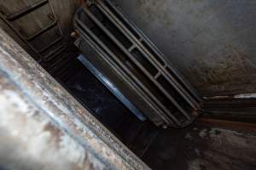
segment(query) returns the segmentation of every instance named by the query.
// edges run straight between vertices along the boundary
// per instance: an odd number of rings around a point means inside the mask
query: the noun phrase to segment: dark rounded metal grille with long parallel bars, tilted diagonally
[[[88,42],[100,54],[98,57],[108,61],[154,110],[154,116],[160,117],[161,122],[155,122],[157,125],[184,127],[194,120],[200,108],[194,90],[142,31],[111,3],[87,1],[75,15],[74,25],[82,41]],[[137,105],[136,100],[132,102]]]

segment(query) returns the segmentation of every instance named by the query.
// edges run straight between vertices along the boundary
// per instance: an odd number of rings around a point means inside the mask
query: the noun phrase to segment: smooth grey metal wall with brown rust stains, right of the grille
[[[256,91],[256,2],[112,0],[203,96]]]

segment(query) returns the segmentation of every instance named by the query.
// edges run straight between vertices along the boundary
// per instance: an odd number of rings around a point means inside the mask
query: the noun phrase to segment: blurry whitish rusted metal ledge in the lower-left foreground
[[[0,29],[0,169],[148,169]]]

